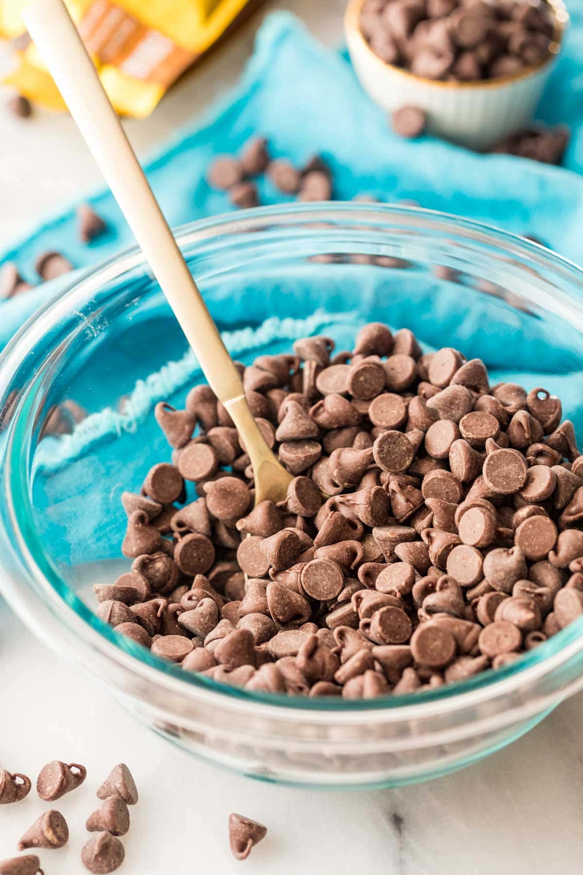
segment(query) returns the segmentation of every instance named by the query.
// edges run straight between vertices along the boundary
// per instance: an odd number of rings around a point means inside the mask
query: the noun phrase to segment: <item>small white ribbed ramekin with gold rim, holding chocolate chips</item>
[[[350,59],[372,100],[388,112],[415,106],[427,113],[427,128],[439,137],[485,150],[531,122],[569,20],[563,0],[550,0],[555,34],[548,59],[513,76],[479,82],[422,79],[378,58],[358,25],[364,0],[350,0],[344,31]]]

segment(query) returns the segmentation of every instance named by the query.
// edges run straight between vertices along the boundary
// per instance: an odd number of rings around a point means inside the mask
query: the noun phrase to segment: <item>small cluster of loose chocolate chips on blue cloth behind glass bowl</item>
[[[330,200],[332,197],[330,168],[322,158],[314,156],[298,170],[287,158],[270,158],[265,137],[249,140],[240,156],[215,158],[208,179],[213,188],[229,193],[234,207],[257,207],[259,193],[253,177],[264,173],[282,194],[296,195],[297,200]]]

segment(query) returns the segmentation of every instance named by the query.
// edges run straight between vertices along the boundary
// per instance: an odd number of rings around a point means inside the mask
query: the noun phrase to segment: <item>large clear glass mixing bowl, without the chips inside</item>
[[[580,424],[580,381],[568,376],[583,367],[583,273],[537,244],[354,202],[221,216],[180,229],[177,241],[240,360],[306,331],[350,348],[359,325],[378,319],[482,357],[493,383],[520,374],[527,388],[544,385]],[[102,623],[91,586],[129,565],[119,558],[121,491],[139,490],[149,466],[169,458],[153,405],[183,402],[196,381],[196,360],[135,249],[53,299],[0,360],[3,594],[142,722],[264,781],[390,787],[478,760],[583,687],[583,620],[504,669],[368,701],[220,685]],[[55,407],[71,401],[89,413],[78,425],[74,404]]]

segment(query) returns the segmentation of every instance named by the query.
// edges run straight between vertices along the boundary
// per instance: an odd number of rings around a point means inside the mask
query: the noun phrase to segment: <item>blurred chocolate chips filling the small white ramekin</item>
[[[480,81],[549,57],[546,0],[365,0],[360,29],[388,64],[423,79]]]

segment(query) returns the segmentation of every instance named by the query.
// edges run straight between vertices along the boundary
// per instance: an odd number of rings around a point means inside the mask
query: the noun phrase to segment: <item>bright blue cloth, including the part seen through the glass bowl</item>
[[[230,208],[226,194],[208,186],[207,167],[216,154],[236,152],[248,137],[260,133],[268,138],[275,157],[285,156],[297,165],[313,153],[322,154],[333,172],[337,200],[350,200],[359,193],[379,200],[413,199],[423,207],[536,235],[559,253],[582,261],[583,10],[573,8],[572,16],[565,51],[539,112],[545,121],[573,127],[563,168],[477,155],[431,137],[415,142],[396,137],[385,114],[363,94],[347,59],[317,44],[295,18],[278,13],[262,27],[253,59],[233,94],[147,165],[150,184],[173,226],[224,213]],[[282,200],[268,179],[260,181],[260,196],[262,203]],[[23,276],[33,280],[31,263],[47,249],[59,249],[76,267],[87,269],[130,245],[131,235],[110,193],[97,193],[90,200],[108,221],[107,235],[81,245],[73,205],[4,258],[16,261]],[[544,385],[561,395],[575,423],[583,424],[579,423],[583,413],[577,412],[583,411],[583,380],[573,373],[572,364],[583,360],[577,332],[569,336],[563,325],[559,337],[552,325],[537,324],[510,308],[504,327],[500,318],[504,305],[496,298],[479,296],[478,301],[469,290],[461,295],[456,285],[432,286],[430,277],[420,278],[413,271],[384,273],[379,283],[378,269],[371,269],[367,284],[365,271],[358,269],[358,318],[350,315],[353,304],[347,297],[347,288],[354,286],[347,285],[350,265],[337,280],[312,264],[302,276],[274,276],[269,290],[248,276],[236,287],[221,282],[203,291],[213,315],[228,332],[228,345],[243,360],[251,360],[258,351],[288,348],[297,332],[307,327],[329,333],[345,348],[365,318],[384,318],[395,327],[409,325],[427,349],[447,342],[464,353],[481,355],[491,368],[493,383],[510,379],[528,388]],[[71,276],[61,277],[1,304],[0,346],[24,318],[69,283]],[[425,289],[422,302],[417,297],[420,283]],[[321,311],[309,326],[298,321],[318,307]],[[489,320],[493,308],[496,319]],[[241,312],[253,326],[250,332],[238,332]],[[281,318],[263,325],[274,312]],[[495,322],[492,332],[489,326]],[[510,342],[518,333],[523,339],[519,348]],[[95,380],[87,386],[91,349],[80,358],[70,386],[72,397],[88,401],[91,416],[73,436],[47,438],[35,458],[38,531],[45,542],[51,542],[53,556],[66,563],[119,555],[123,529],[119,492],[123,487],[139,488],[149,464],[163,458],[162,453],[167,455],[151,416],[153,404],[161,399],[183,402],[188,386],[200,376],[193,357],[181,359],[182,350],[175,348],[170,332],[156,349],[157,360],[149,361],[148,367],[143,360],[123,359],[126,353],[115,332],[108,334],[108,343],[110,367],[100,374],[101,387]],[[101,345],[95,354],[102,353]],[[129,394],[122,414],[103,407],[103,399],[111,397],[108,380],[115,381],[120,395]],[[89,492],[90,513],[84,503]]]

